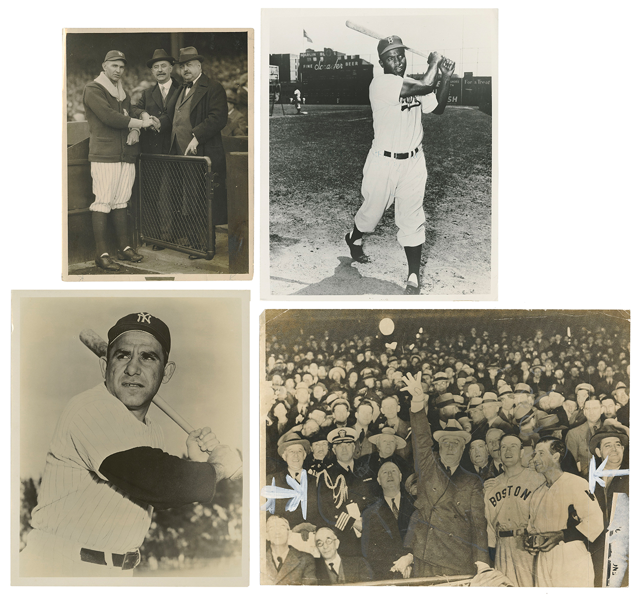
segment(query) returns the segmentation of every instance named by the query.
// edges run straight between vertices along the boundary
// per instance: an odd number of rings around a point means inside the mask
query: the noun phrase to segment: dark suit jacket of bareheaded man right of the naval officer
[[[404,541],[414,510],[412,501],[401,493],[398,519],[394,518],[384,498],[363,512],[361,545],[374,580],[401,578],[398,573],[390,573],[390,568],[396,560],[411,551],[404,546]]]

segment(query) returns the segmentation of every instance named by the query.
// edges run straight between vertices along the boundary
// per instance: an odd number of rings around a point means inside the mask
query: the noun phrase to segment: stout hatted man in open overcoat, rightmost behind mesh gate
[[[225,186],[226,163],[221,130],[227,124],[227,95],[221,83],[203,72],[204,56],[195,47],[183,47],[176,63],[184,85],[167,104],[167,115],[172,122],[171,154],[208,157],[212,172],[218,174],[221,195]],[[204,213],[198,208],[199,189],[188,179],[183,180],[183,214],[197,219],[203,232],[192,232],[189,238],[195,249],[204,249]],[[202,189],[200,189],[200,192]],[[215,232],[214,232],[215,240]],[[190,259],[199,256],[190,255]]]

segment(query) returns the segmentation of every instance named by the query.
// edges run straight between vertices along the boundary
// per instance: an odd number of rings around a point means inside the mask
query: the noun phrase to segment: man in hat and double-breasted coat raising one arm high
[[[474,575],[474,562],[490,563],[483,483],[460,466],[470,434],[449,420],[432,438],[424,413],[426,395],[416,377],[408,374],[405,391],[412,395],[410,424],[419,473],[417,512],[408,528],[414,576]],[[438,453],[433,450],[438,442]]]

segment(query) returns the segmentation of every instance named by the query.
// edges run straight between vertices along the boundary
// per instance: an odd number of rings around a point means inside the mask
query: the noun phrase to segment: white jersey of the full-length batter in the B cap
[[[434,93],[419,97],[401,97],[403,77],[383,74],[372,79],[369,101],[374,117],[376,151],[408,153],[423,142],[422,113],[430,113],[438,106]]]

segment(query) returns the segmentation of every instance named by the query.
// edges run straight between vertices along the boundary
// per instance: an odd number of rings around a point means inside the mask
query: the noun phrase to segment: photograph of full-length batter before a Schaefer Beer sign
[[[272,299],[497,298],[497,22],[494,9],[263,10]]]

